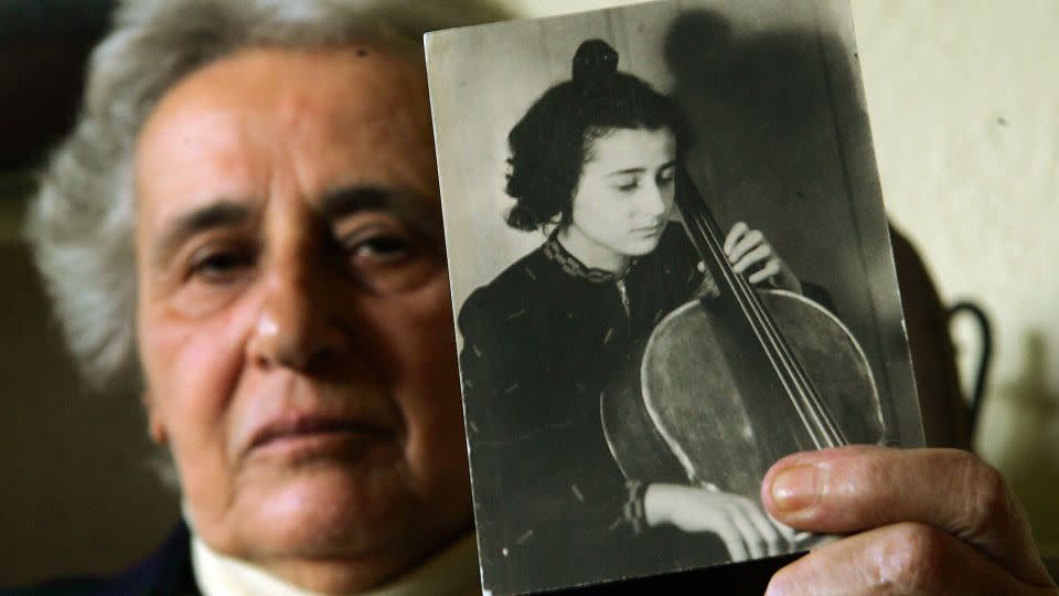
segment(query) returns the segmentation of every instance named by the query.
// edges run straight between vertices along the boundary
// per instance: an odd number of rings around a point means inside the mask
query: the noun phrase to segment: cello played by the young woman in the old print
[[[792,291],[732,270],[724,235],[685,172],[675,203],[719,296],[664,317],[600,396],[624,476],[741,494],[794,451],[884,439],[879,394],[845,324]]]

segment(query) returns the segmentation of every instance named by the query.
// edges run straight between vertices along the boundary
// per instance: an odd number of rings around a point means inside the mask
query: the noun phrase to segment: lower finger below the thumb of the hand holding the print
[[[901,523],[849,536],[783,567],[766,596],[1050,594],[1020,584],[973,546],[929,525]]]

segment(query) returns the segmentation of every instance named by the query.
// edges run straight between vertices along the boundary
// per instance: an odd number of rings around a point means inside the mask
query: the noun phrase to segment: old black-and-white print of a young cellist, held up
[[[653,2],[426,47],[483,588],[826,540],[764,513],[769,466],[922,443],[848,7]]]

